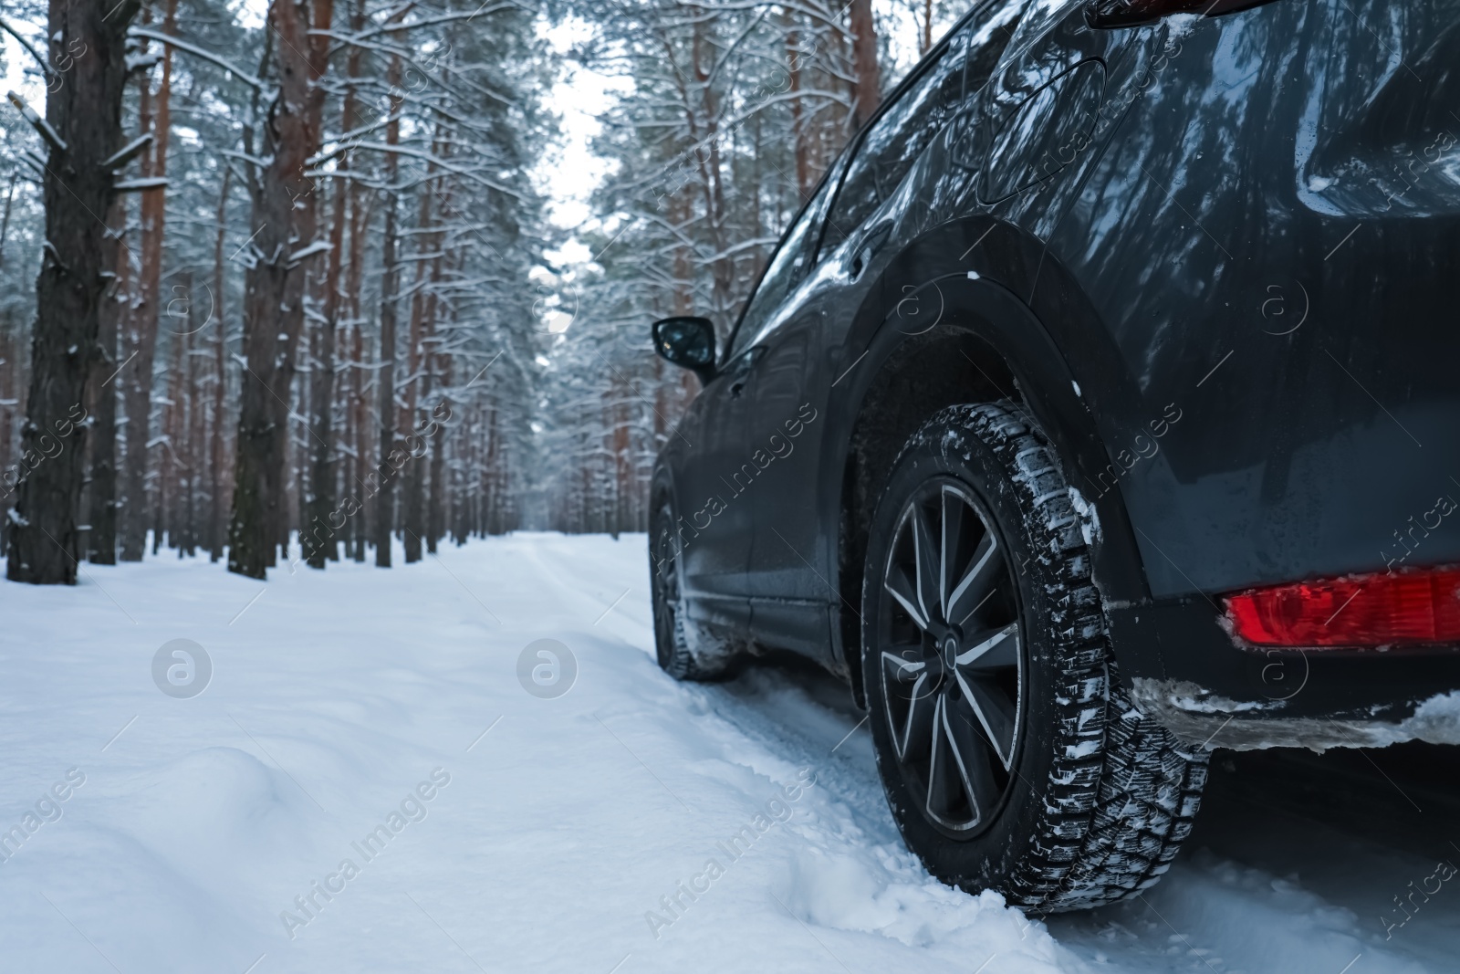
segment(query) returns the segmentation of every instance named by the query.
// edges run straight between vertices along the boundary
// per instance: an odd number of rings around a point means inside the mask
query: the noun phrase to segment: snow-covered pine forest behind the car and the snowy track
[[[696,390],[648,323],[692,310],[724,339],[964,7],[7,3],[9,578],[644,530]]]

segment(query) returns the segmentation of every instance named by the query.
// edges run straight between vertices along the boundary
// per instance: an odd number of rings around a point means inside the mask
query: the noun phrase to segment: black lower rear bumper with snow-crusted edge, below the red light
[[[1460,645],[1241,648],[1218,603],[1199,596],[1107,610],[1136,705],[1177,737],[1238,751],[1460,743]]]

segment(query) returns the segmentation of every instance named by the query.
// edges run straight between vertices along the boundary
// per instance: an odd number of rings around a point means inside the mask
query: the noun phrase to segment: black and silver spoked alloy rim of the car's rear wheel
[[[971,838],[1015,777],[1025,650],[1007,548],[965,485],[930,480],[902,508],[879,619],[883,718],[898,768],[931,825]]]

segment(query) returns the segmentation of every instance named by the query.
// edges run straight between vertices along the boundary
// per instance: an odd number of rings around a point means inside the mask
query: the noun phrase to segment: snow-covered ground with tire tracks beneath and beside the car
[[[1029,921],[905,851],[829,678],[661,675],[647,584],[642,536],[550,534],[0,583],[0,968],[1456,970],[1460,765],[1241,756],[1143,900]],[[577,662],[550,699],[542,638]],[[197,697],[153,680],[171,640]]]

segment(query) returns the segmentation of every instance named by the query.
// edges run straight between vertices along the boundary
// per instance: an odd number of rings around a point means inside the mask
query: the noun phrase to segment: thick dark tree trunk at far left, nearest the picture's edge
[[[47,37],[54,51],[85,45],[61,85],[45,99],[45,129],[54,133],[45,166],[45,254],[35,279],[31,388],[20,457],[20,483],[6,574],[12,581],[76,584],[82,555],[82,459],[86,380],[96,350],[102,295],[115,242],[98,213],[115,196],[102,165],[121,146],[126,32],[137,0],[102,4],[51,0]],[[31,463],[34,460],[34,464]]]

